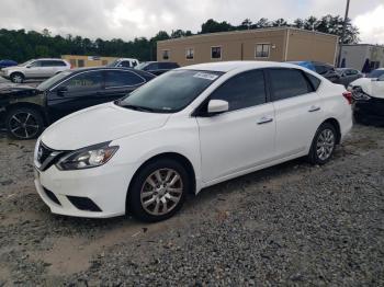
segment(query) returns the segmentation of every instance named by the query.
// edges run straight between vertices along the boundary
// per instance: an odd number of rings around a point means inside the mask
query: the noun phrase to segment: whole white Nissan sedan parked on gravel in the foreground
[[[352,127],[350,101],[289,64],[180,68],[48,127],[35,185],[55,214],[162,220],[203,187],[303,156],[326,163]]]

